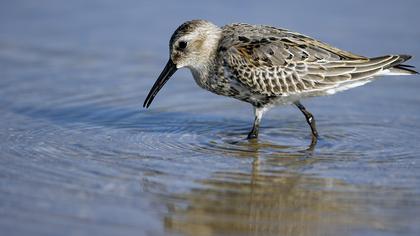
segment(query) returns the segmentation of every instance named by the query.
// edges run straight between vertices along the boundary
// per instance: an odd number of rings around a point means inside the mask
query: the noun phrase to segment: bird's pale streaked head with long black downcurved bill
[[[204,69],[212,60],[220,37],[221,29],[205,20],[187,21],[179,26],[169,41],[169,60],[147,95],[143,107],[150,106],[156,94],[177,69]]]

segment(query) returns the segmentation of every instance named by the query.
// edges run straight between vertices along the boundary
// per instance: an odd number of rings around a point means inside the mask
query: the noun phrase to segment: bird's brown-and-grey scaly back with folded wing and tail
[[[222,30],[218,61],[225,79],[268,100],[334,93],[380,74],[416,73],[401,65],[407,55],[367,58],[271,26],[231,24]]]

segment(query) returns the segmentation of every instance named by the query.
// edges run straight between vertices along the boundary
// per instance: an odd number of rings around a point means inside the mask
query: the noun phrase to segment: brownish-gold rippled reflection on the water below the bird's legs
[[[322,158],[308,158],[307,150],[259,141],[244,142],[253,152],[252,168],[215,172],[201,187],[168,203],[165,228],[186,235],[341,235],[348,230],[384,222],[363,214],[358,197],[363,188],[310,174]],[[259,156],[262,149],[280,154]],[[179,204],[179,200],[183,199]],[[344,231],[344,232],[343,232]],[[348,232],[347,232],[348,233]]]

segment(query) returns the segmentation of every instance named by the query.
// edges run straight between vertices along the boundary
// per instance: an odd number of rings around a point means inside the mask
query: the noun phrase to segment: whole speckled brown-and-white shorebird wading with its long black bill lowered
[[[402,64],[409,55],[368,58],[286,29],[244,23],[218,27],[206,20],[187,21],[173,33],[169,54],[143,107],[150,106],[177,69],[186,67],[201,88],[253,106],[249,139],[258,137],[265,111],[294,104],[305,116],[315,144],[315,119],[301,99],[331,95],[381,75],[418,74],[413,66]]]

